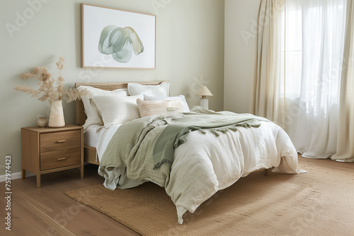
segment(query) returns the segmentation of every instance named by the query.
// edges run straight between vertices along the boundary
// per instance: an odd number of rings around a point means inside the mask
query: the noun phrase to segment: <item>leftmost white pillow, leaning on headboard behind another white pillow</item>
[[[120,88],[113,91],[101,90],[99,88],[93,88],[91,86],[79,86],[78,90],[87,90],[89,95],[82,97],[81,100],[84,103],[85,113],[87,116],[86,122],[84,124],[84,129],[86,130],[92,124],[103,124],[101,117],[98,116],[98,110],[95,106],[90,103],[90,98],[96,95],[115,95],[115,96],[127,96],[127,89]]]

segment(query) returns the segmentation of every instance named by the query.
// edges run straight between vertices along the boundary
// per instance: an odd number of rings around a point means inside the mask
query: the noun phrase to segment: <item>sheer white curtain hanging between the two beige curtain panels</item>
[[[347,0],[287,0],[281,81],[285,129],[307,158],[336,153]]]

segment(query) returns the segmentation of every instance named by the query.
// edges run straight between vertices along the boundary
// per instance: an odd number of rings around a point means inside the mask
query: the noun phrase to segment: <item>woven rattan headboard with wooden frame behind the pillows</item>
[[[91,86],[94,88],[99,88],[102,90],[116,90],[118,88],[127,88],[128,83],[140,83],[142,85],[159,85],[160,83],[165,81],[144,81],[144,82],[107,82],[107,83],[75,83],[75,88],[84,85],[84,86]],[[84,125],[87,119],[85,110],[84,110],[84,103],[81,100],[76,100],[75,103],[75,123],[79,125]]]

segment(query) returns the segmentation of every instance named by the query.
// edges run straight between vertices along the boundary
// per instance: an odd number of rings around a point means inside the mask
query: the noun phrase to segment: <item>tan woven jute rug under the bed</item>
[[[178,225],[164,188],[103,184],[67,196],[141,235],[354,235],[354,172],[299,164],[301,175],[256,171],[217,192]]]

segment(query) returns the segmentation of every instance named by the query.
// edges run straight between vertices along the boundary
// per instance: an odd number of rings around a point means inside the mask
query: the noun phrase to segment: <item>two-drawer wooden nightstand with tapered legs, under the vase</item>
[[[84,178],[84,129],[68,124],[62,128],[21,128],[22,179],[25,171],[37,176],[79,168]]]

